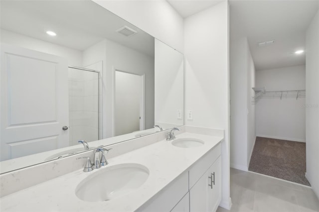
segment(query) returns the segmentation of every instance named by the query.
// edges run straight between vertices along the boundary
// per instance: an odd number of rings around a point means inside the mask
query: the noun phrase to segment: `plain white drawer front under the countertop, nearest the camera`
[[[141,206],[137,212],[169,212],[187,192],[188,172],[184,172]]]

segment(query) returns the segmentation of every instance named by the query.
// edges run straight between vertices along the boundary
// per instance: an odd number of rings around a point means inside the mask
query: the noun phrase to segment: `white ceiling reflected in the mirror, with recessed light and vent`
[[[1,29],[83,51],[104,38],[154,56],[154,37],[90,0],[1,0]],[[115,32],[127,25],[138,33]],[[48,36],[47,30],[57,36]]]

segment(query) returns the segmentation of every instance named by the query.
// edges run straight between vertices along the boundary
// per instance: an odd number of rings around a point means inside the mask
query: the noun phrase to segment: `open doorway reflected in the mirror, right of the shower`
[[[115,135],[144,129],[144,76],[115,71]]]

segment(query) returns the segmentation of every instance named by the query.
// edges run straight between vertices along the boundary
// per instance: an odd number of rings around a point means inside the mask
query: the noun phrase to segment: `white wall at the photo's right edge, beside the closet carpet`
[[[319,11],[306,32],[306,177],[319,198]]]

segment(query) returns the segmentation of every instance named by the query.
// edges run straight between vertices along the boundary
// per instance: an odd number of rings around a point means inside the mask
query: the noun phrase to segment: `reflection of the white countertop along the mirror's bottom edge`
[[[136,136],[136,134],[138,134],[138,133],[146,132],[147,134],[151,134],[151,133],[158,132],[158,130],[159,130],[158,128],[150,128],[150,129],[140,130],[137,132],[132,132],[132,133],[124,134],[124,135],[105,138],[105,139],[101,139],[101,140],[97,140],[97,141],[91,141],[88,144],[90,147],[93,147],[93,148],[98,147],[98,146],[107,146],[107,145],[119,143],[122,141],[134,139],[136,137],[140,137],[140,136]],[[68,147],[55,149],[55,150],[51,150],[51,151],[41,152],[41,153],[37,153],[37,154],[33,154],[33,155],[27,155],[24,157],[14,158],[11,160],[1,161],[0,162],[0,173],[5,173],[5,172],[12,171],[12,170],[28,167],[31,165],[43,163],[45,161],[50,160],[49,157],[51,157],[51,156],[56,156],[59,153],[61,153],[61,155],[63,155],[65,152],[68,152],[68,151],[72,152],[75,150],[77,151],[81,148],[83,150],[80,152],[85,151],[83,144],[78,144],[78,145],[68,146]]]

